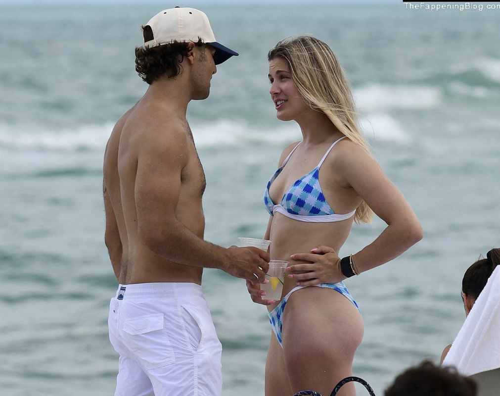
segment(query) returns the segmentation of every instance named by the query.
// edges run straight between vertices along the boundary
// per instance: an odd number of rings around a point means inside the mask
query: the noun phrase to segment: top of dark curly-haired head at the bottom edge
[[[384,396],[475,396],[476,392],[474,380],[426,360],[399,374]]]

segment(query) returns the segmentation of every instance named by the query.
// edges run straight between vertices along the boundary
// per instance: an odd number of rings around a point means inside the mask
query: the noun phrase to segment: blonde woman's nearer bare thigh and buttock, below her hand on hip
[[[293,292],[283,312],[283,357],[292,393],[312,389],[330,394],[352,375],[363,321],[357,308],[335,290],[307,287]],[[345,385],[341,393],[354,394]]]

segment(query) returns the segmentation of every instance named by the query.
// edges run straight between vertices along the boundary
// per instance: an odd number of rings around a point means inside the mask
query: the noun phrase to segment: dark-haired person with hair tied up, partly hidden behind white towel
[[[479,297],[489,277],[496,266],[500,264],[500,249],[491,249],[486,258],[480,258],[467,268],[462,279],[462,301],[465,308],[465,316],[468,316],[475,300]],[[446,346],[441,354],[441,363],[446,357],[451,344]]]

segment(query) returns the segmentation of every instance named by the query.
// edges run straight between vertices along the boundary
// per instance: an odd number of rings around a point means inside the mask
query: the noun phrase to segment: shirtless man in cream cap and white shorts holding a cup
[[[136,70],[149,87],[104,155],[105,243],[120,283],[108,319],[120,355],[115,396],[216,396],[221,344],[202,269],[263,282],[269,255],[203,240],[205,177],[186,110],[208,97],[215,65],[237,54],[194,9],[164,10],[143,34]]]

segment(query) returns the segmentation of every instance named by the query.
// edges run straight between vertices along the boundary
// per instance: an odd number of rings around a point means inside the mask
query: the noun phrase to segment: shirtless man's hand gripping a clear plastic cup
[[[250,283],[263,283],[269,269],[269,253],[256,247],[236,247],[227,249],[228,262],[221,268],[229,275],[243,278]]]

